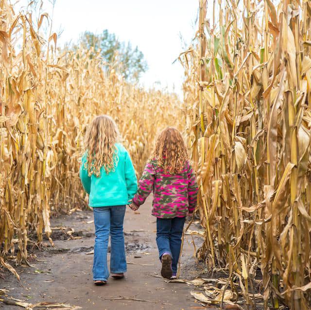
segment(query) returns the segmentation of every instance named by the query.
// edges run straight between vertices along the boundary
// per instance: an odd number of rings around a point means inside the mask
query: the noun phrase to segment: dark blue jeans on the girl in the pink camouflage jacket
[[[161,260],[164,253],[171,254],[173,273],[177,272],[185,220],[185,217],[156,218],[156,245],[159,258]]]

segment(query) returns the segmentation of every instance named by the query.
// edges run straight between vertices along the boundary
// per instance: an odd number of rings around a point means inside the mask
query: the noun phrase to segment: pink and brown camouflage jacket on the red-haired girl
[[[152,215],[159,218],[185,217],[196,206],[198,185],[190,163],[175,175],[165,174],[157,160],[149,160],[139,180],[133,202],[142,205],[153,191]]]

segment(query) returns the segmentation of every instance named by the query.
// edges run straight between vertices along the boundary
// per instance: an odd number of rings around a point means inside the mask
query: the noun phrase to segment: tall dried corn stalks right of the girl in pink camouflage
[[[311,1],[199,3],[197,47],[180,55],[198,256],[249,307],[260,268],[265,309],[310,309]]]

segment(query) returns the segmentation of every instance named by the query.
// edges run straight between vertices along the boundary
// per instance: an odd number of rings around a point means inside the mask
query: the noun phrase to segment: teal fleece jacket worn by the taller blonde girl
[[[102,167],[98,178],[94,174],[88,176],[86,154],[82,157],[80,179],[89,195],[90,207],[127,205],[137,192],[137,178],[130,155],[121,144],[117,143],[116,147],[119,161],[115,171],[107,174]]]

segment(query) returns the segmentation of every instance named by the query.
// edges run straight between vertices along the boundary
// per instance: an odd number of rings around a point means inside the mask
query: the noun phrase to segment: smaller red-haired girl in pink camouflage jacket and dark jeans
[[[185,219],[196,207],[198,186],[184,139],[174,128],[167,128],[158,136],[131,209],[138,210],[151,192],[154,194],[152,215],[157,218],[156,244],[162,262],[161,275],[176,278]]]

